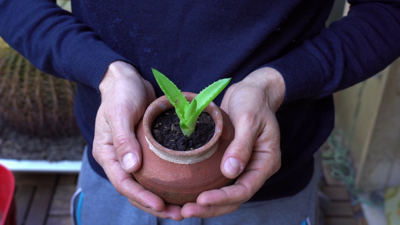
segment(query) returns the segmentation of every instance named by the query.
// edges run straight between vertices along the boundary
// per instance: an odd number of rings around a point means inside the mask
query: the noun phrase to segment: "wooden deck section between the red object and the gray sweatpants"
[[[17,225],[71,225],[77,175],[16,173]]]

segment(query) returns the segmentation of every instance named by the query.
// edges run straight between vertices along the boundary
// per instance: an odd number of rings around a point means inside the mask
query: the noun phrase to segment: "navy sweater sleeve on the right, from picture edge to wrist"
[[[284,78],[284,102],[322,98],[373,76],[400,56],[400,1],[349,0],[348,16],[264,66]]]

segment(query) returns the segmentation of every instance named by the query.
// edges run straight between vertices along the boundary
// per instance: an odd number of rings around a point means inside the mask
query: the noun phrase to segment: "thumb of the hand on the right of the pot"
[[[221,162],[221,172],[230,179],[236,178],[246,167],[252,155],[253,145],[258,134],[256,126],[244,120],[234,123],[235,137],[226,149]]]

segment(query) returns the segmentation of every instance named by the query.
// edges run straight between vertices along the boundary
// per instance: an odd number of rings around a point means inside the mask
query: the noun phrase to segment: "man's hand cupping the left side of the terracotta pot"
[[[93,156],[115,189],[130,203],[161,218],[182,220],[181,207],[164,201],[134,180],[142,151],[134,126],[156,98],[150,82],[128,63],[112,62],[99,85],[102,102],[96,116]],[[99,196],[101,197],[101,196]]]

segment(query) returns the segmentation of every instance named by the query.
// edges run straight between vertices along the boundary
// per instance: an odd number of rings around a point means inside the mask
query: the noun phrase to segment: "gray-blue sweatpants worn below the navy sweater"
[[[291,197],[246,202],[233,213],[209,219],[160,219],[130,205],[110,181],[93,171],[85,151],[71,212],[76,225],[315,225],[317,200],[314,175],[304,190]]]

